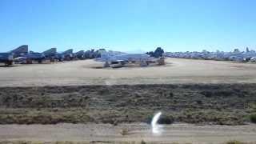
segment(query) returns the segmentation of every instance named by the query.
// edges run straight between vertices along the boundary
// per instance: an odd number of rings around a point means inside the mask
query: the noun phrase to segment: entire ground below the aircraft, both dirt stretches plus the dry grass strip
[[[99,69],[102,63],[93,60],[0,66],[0,144],[256,142],[250,122],[256,64],[166,62],[118,69]],[[152,135],[146,123],[158,111],[160,123],[169,125]]]

